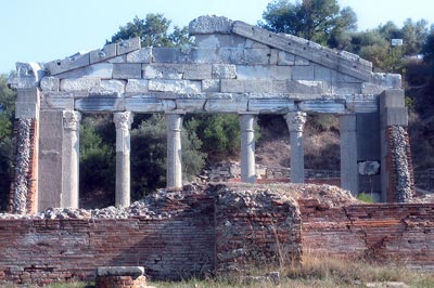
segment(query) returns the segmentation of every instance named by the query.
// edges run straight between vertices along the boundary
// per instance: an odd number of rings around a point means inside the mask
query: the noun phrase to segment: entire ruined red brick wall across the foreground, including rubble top
[[[98,266],[119,265],[144,266],[151,279],[244,273],[302,253],[434,270],[434,204],[349,205],[357,200],[328,187],[161,192],[125,219],[0,214],[0,285],[94,280]]]

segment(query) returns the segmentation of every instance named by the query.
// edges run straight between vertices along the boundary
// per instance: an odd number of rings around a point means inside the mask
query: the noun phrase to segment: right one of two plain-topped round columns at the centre
[[[241,114],[241,182],[255,183],[255,114]]]

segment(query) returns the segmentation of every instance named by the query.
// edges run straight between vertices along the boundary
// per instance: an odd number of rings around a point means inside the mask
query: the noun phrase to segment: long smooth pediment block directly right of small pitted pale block
[[[240,65],[237,67],[238,79],[291,79],[290,66]]]

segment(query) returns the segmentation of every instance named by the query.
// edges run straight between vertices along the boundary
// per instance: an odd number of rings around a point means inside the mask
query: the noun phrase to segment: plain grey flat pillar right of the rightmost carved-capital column
[[[340,116],[341,187],[355,196],[359,193],[356,127],[356,114]]]

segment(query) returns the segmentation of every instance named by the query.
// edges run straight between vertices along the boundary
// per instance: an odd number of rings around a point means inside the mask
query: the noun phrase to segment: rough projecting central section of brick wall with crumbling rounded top
[[[216,272],[242,272],[301,259],[297,205],[267,188],[216,195]]]

